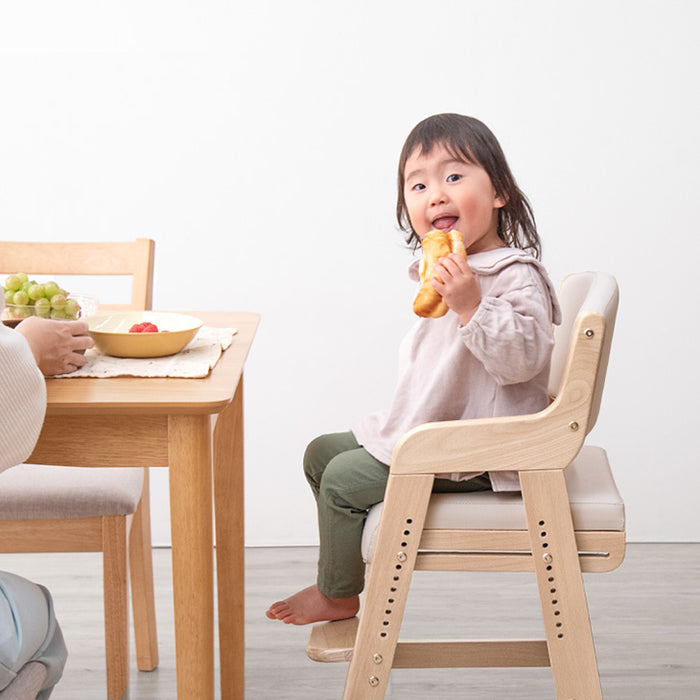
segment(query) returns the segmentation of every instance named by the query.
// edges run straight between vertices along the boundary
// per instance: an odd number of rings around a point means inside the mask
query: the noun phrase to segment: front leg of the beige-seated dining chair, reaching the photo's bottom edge
[[[102,518],[107,697],[122,700],[129,684],[126,516]]]

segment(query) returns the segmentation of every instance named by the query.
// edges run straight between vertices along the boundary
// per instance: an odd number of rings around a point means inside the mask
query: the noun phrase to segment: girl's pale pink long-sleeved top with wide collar
[[[449,310],[421,318],[399,348],[398,381],[388,410],[352,428],[375,459],[391,463],[397,441],[422,423],[536,413],[549,403],[547,383],[554,337],[561,323],[556,291],[542,264],[515,248],[468,256],[481,285],[481,303],[461,326]],[[416,281],[419,261],[409,267]],[[454,481],[483,470],[465,455],[464,471],[437,474]],[[517,472],[489,474],[494,491],[517,491]]]

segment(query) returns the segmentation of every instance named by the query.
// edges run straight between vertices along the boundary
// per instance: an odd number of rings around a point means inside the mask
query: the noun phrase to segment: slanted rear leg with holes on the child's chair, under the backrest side
[[[520,483],[557,698],[601,700],[564,472],[521,472]]]

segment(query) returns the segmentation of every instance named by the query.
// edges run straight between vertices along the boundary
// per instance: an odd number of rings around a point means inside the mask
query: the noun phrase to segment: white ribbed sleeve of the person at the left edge
[[[25,338],[0,323],[0,472],[34,449],[46,412],[46,383]]]

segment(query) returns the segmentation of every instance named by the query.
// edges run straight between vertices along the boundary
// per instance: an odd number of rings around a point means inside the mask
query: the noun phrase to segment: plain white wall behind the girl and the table
[[[249,545],[316,542],[306,443],[389,400],[412,322],[395,163],[495,131],[544,261],[621,287],[594,440],[631,540],[697,540],[698,4],[0,4],[0,235],[152,237],[160,310],[255,310]],[[167,541],[167,472],[154,538]]]

